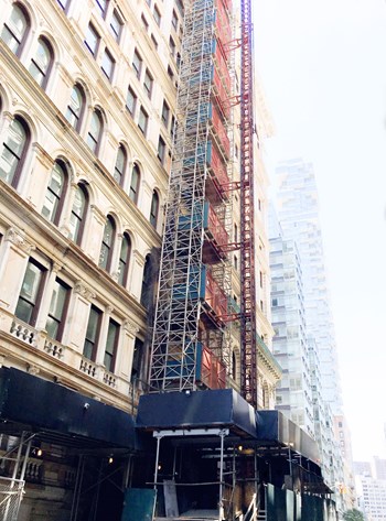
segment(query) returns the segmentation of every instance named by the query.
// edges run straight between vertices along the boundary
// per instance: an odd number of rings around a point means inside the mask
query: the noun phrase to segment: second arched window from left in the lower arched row
[[[61,160],[55,161],[42,209],[42,215],[54,225],[58,225],[67,187],[67,178],[68,175],[64,162]]]

